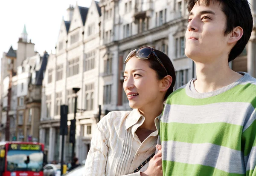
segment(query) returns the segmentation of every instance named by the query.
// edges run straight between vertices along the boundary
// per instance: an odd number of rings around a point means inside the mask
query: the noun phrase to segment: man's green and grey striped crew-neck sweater
[[[208,93],[192,80],[167,99],[160,122],[164,176],[256,176],[256,79]]]

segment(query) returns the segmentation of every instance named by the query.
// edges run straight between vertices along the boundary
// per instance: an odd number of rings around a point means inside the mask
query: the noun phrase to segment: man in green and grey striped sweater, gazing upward
[[[256,79],[228,62],[247,44],[247,0],[188,0],[185,54],[197,78],[167,99],[160,124],[163,175],[256,176]]]

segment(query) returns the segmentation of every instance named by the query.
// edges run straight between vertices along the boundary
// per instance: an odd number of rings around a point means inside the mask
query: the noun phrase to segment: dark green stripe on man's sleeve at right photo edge
[[[256,147],[256,120],[242,133],[242,142],[244,143],[244,156],[250,154],[253,147]]]

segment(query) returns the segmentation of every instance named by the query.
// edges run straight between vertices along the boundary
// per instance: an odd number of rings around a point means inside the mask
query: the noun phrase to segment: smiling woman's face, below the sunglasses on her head
[[[162,99],[160,80],[149,62],[132,57],[125,65],[124,91],[133,109],[151,107]]]

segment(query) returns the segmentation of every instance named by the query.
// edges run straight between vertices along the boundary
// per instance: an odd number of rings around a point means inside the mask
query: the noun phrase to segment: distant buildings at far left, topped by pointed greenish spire
[[[27,35],[24,26],[17,50],[11,47],[2,57],[0,140],[38,141],[39,138],[41,85],[48,54],[40,56],[35,52],[35,44],[28,42]]]

